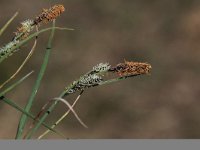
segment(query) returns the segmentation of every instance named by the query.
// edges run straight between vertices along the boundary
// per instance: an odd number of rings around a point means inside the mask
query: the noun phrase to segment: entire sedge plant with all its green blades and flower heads
[[[65,7],[61,4],[57,4],[52,6],[49,9],[43,9],[42,12],[37,15],[33,19],[27,19],[21,22],[20,26],[17,27],[17,30],[14,32],[15,35],[12,37],[12,40],[9,41],[7,44],[0,48],[0,63],[10,58],[12,54],[22,49],[23,45],[27,42],[34,40],[34,44],[30,50],[29,55],[24,59],[22,65],[17,69],[17,71],[4,83],[0,84],[0,99],[1,101],[9,104],[16,110],[22,113],[19,124],[17,127],[16,139],[30,139],[33,137],[34,133],[42,126],[44,126],[47,130],[44,131],[38,139],[43,138],[47,135],[50,131],[65,137],[62,132],[55,130],[54,128],[66,118],[66,116],[72,112],[76,119],[87,128],[87,125],[83,123],[80,119],[76,111],[74,110],[75,104],[80,99],[81,95],[84,91],[88,90],[89,88],[93,88],[96,86],[106,85],[110,83],[115,83],[127,78],[132,78],[139,75],[146,75],[150,73],[151,65],[148,63],[142,62],[134,62],[134,61],[124,61],[122,63],[116,65],[110,65],[109,63],[99,63],[94,66],[90,71],[80,76],[78,79],[74,80],[72,83],[68,84],[58,96],[52,96],[51,100],[47,100],[38,114],[33,115],[30,112],[32,104],[36,99],[37,91],[39,90],[40,84],[42,82],[43,76],[45,74],[49,56],[52,50],[52,41],[54,37],[55,30],[73,30],[71,28],[60,28],[55,26],[55,21],[57,18],[65,11]],[[7,29],[9,24],[11,24],[12,20],[18,15],[18,12],[14,14],[14,16],[0,29],[0,36],[4,33]],[[41,26],[52,22],[52,27],[41,29]],[[27,100],[27,104],[24,108],[20,107],[18,104],[8,98],[7,93],[14,90],[16,86],[23,83],[26,78],[30,77],[33,73],[31,71],[27,75],[23,76],[22,78],[16,80],[14,83],[10,84],[10,80],[14,79],[18,72],[23,69],[23,66],[27,63],[27,61],[31,58],[33,52],[36,49],[37,44],[37,37],[46,31],[51,31],[48,39],[48,43],[46,46],[45,54],[43,57],[43,62],[40,66],[40,71],[37,75],[35,80],[35,84],[32,87],[31,94]],[[63,64],[64,65],[64,64]],[[112,76],[107,77],[108,74],[112,74]],[[71,105],[67,101],[67,96],[79,93],[78,97],[75,99],[73,104]],[[16,101],[16,100],[15,100]],[[56,109],[56,106],[59,102],[64,103],[68,110],[62,116],[58,117],[58,120],[52,125],[45,123],[45,119],[51,114],[51,112]],[[27,125],[27,119],[31,118],[32,124],[29,126],[28,130],[25,130],[25,126]]]

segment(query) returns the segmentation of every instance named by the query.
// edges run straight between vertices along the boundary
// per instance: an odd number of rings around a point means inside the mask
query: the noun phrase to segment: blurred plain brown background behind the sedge
[[[68,138],[200,138],[199,0],[1,0],[1,27],[16,11],[19,15],[0,37],[0,44],[11,40],[19,22],[58,3],[67,11],[57,19],[57,26],[75,31],[56,31],[34,114],[100,62],[148,62],[153,67],[150,76],[92,88],[83,94],[75,110],[89,129],[72,114],[56,129]],[[17,79],[31,70],[34,75],[7,94],[20,106],[25,106],[30,96],[48,36],[39,36],[36,52]],[[17,69],[31,45],[0,64],[0,82]],[[67,99],[71,102],[76,96]],[[54,123],[66,110],[59,105],[47,122]],[[0,138],[15,137],[20,115],[0,103]],[[42,131],[44,128],[38,135]],[[60,137],[51,133],[45,138]]]

